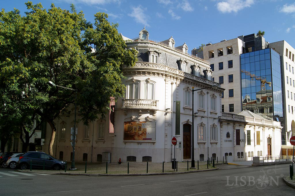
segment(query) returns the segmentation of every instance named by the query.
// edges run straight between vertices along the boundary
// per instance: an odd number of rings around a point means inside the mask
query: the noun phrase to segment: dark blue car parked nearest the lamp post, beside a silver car
[[[24,153],[22,156],[19,157],[17,167],[22,170],[27,170],[30,168],[31,160],[32,167],[34,168],[43,168],[43,165],[45,166],[45,169],[60,170],[65,168],[64,161],[55,159],[43,152]]]

